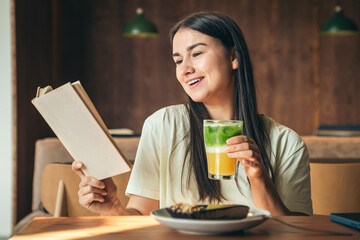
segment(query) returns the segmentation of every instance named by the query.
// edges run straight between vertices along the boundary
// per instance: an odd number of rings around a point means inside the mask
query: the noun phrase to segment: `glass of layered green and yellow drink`
[[[204,142],[210,179],[234,178],[237,159],[227,156],[226,140],[241,135],[242,130],[243,121],[240,120],[204,120]]]

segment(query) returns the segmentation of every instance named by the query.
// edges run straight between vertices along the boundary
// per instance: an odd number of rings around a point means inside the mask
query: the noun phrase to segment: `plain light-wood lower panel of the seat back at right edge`
[[[310,163],[314,214],[360,212],[360,163]]]

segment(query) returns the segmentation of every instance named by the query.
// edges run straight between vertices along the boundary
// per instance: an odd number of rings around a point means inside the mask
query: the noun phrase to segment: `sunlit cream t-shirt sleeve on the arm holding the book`
[[[144,122],[126,195],[134,194],[155,200],[160,198],[160,131],[156,122],[156,115],[150,116]]]

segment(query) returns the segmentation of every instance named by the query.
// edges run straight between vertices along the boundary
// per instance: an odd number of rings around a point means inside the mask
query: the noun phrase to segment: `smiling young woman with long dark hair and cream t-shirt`
[[[197,13],[171,31],[176,77],[188,103],[169,106],[144,123],[127,186],[127,206],[113,181],[85,176],[79,202],[102,215],[149,214],[175,203],[232,203],[272,215],[312,214],[306,145],[292,130],[257,112],[252,66],[241,30],[219,13]],[[244,135],[227,140],[239,164],[235,181],[210,180],[204,119],[244,121]]]

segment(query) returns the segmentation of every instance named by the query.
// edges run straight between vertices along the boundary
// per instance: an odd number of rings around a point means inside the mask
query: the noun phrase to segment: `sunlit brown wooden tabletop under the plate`
[[[35,218],[16,239],[360,239],[360,231],[331,222],[329,216],[288,216],[282,221],[302,227],[352,233],[352,236],[334,236],[291,228],[268,219],[245,232],[220,236],[188,235],[161,225],[150,216],[117,217],[46,217]]]

